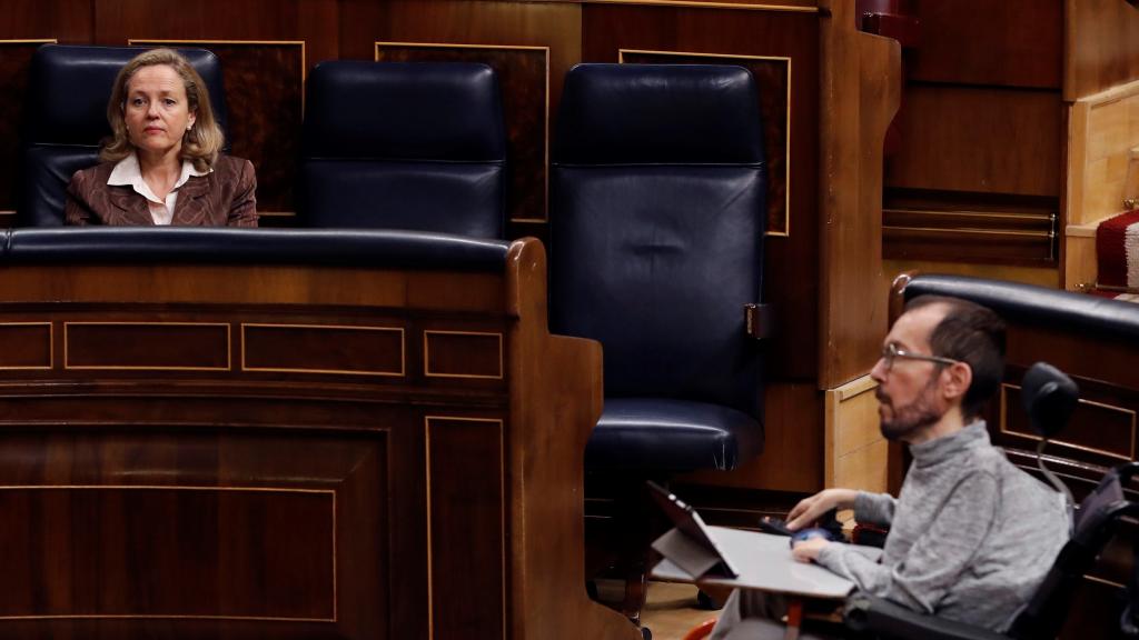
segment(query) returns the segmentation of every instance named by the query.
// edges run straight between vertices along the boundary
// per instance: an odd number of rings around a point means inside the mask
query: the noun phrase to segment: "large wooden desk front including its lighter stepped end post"
[[[492,271],[0,265],[0,637],[640,638],[585,596],[601,351]]]

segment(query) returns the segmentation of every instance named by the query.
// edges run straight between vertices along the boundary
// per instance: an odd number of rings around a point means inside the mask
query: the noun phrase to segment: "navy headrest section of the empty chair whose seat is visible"
[[[755,80],[730,65],[577,65],[566,74],[555,161],[760,164]]]

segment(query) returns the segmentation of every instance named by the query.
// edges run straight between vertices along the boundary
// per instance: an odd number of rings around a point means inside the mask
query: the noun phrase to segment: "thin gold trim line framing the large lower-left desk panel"
[[[333,617],[276,617],[276,616],[205,616],[205,615],[174,615],[174,614],[59,614],[59,615],[27,615],[27,616],[0,616],[6,621],[24,620],[235,620],[251,622],[338,622],[339,620],[339,594],[337,590],[337,558],[336,558],[336,491],[330,489],[296,489],[286,486],[198,486],[198,485],[142,485],[142,484],[59,484],[59,485],[0,485],[0,491],[74,491],[74,490],[142,490],[142,491],[232,491],[240,493],[312,493],[328,494],[333,500]]]

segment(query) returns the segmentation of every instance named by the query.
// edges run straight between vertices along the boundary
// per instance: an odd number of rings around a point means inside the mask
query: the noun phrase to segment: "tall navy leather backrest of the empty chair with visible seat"
[[[765,169],[734,66],[579,65],[551,175],[551,328],[605,348],[607,396],[755,415]]]

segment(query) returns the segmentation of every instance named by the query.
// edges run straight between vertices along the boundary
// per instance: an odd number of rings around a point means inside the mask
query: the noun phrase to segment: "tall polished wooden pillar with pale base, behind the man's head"
[[[882,179],[886,129],[901,99],[895,40],[855,28],[854,3],[825,0],[819,136],[819,386],[828,484],[885,490],[885,445],[866,374],[886,331]],[[861,378],[860,378],[861,377]]]

